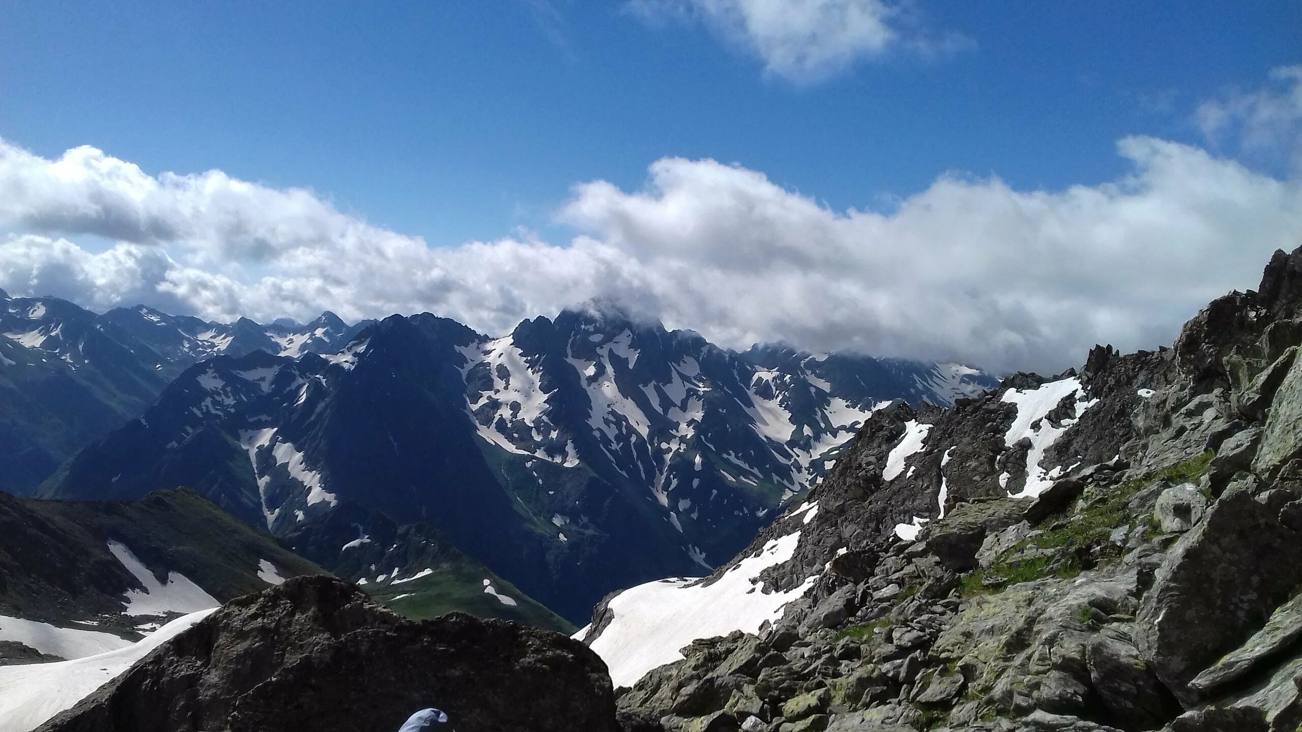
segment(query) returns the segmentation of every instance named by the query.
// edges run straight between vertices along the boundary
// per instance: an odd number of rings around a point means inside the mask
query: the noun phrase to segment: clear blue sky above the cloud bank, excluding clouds
[[[449,245],[547,231],[575,182],[637,188],[667,155],[741,163],[833,208],[949,169],[1095,184],[1124,169],[1120,137],[1197,139],[1198,99],[1302,46],[1293,1],[917,10],[967,43],[802,83],[704,23],[609,1],[7,3],[0,135],[310,186]]]

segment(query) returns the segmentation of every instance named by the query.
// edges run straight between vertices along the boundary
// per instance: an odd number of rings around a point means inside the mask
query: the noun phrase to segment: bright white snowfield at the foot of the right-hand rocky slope
[[[767,593],[758,580],[764,569],[792,559],[799,541],[801,533],[794,531],[768,542],[712,585],[676,578],[628,589],[611,599],[613,619],[599,636],[587,638],[589,625],[574,638],[602,656],[616,686],[631,686],[652,668],[682,659],[678,649],[691,641],[733,630],[756,633],[814,586],[816,574],[786,593]]]

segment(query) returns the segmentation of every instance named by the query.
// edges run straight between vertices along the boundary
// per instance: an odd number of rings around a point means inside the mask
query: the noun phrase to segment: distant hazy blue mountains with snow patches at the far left
[[[0,292],[0,491],[30,494],[77,449],[138,417],[171,379],[219,353],[333,352],[367,323],[233,324],[150,307],[103,315]]]

